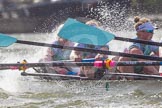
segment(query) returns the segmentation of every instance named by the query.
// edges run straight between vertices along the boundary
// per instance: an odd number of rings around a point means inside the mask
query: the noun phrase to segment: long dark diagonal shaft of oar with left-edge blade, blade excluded
[[[152,56],[128,54],[128,53],[121,53],[121,52],[114,52],[114,51],[96,50],[96,49],[90,49],[90,48],[70,47],[70,46],[46,44],[46,43],[40,43],[40,42],[22,41],[22,40],[17,40],[16,43],[43,46],[43,47],[61,48],[61,49],[76,50],[76,51],[84,51],[84,52],[92,52],[92,53],[100,53],[100,54],[105,54],[105,55],[115,55],[115,56],[139,58],[139,59],[146,59],[146,60],[162,61],[161,57],[152,57]]]

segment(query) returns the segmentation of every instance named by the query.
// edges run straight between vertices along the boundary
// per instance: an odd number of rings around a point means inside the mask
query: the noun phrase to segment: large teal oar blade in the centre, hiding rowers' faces
[[[73,42],[92,45],[105,45],[115,37],[111,33],[72,18],[67,19],[58,36]]]

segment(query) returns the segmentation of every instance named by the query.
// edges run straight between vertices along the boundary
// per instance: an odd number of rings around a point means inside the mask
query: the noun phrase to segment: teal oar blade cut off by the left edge
[[[16,38],[0,34],[0,47],[8,47],[17,41]]]

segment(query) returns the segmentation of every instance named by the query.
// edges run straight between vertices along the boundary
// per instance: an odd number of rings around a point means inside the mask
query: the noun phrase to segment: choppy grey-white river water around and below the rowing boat
[[[133,38],[134,31],[121,31],[118,36]],[[155,31],[159,41],[162,32]],[[50,43],[50,34],[12,34],[19,40]],[[110,50],[122,51],[128,42],[111,41]],[[26,59],[38,62],[46,48],[13,44],[0,48],[1,63]],[[32,72],[32,69],[28,69]],[[146,81],[45,81],[21,76],[18,70],[0,71],[0,108],[160,108],[162,82]]]

